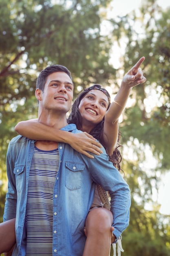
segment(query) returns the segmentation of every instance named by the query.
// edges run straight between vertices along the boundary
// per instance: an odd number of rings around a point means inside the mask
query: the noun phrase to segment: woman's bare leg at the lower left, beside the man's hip
[[[15,243],[15,219],[0,223],[0,254],[8,252]]]

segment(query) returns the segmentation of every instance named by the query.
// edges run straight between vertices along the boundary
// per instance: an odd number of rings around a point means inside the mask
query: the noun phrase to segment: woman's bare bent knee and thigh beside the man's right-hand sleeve
[[[113,214],[106,208],[91,210],[86,218],[86,244],[83,256],[109,256],[113,227]]]

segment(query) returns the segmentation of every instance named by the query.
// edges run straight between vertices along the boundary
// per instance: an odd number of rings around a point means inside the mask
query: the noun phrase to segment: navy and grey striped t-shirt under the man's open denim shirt
[[[53,255],[53,187],[58,167],[58,149],[35,147],[26,204],[26,256]]]

